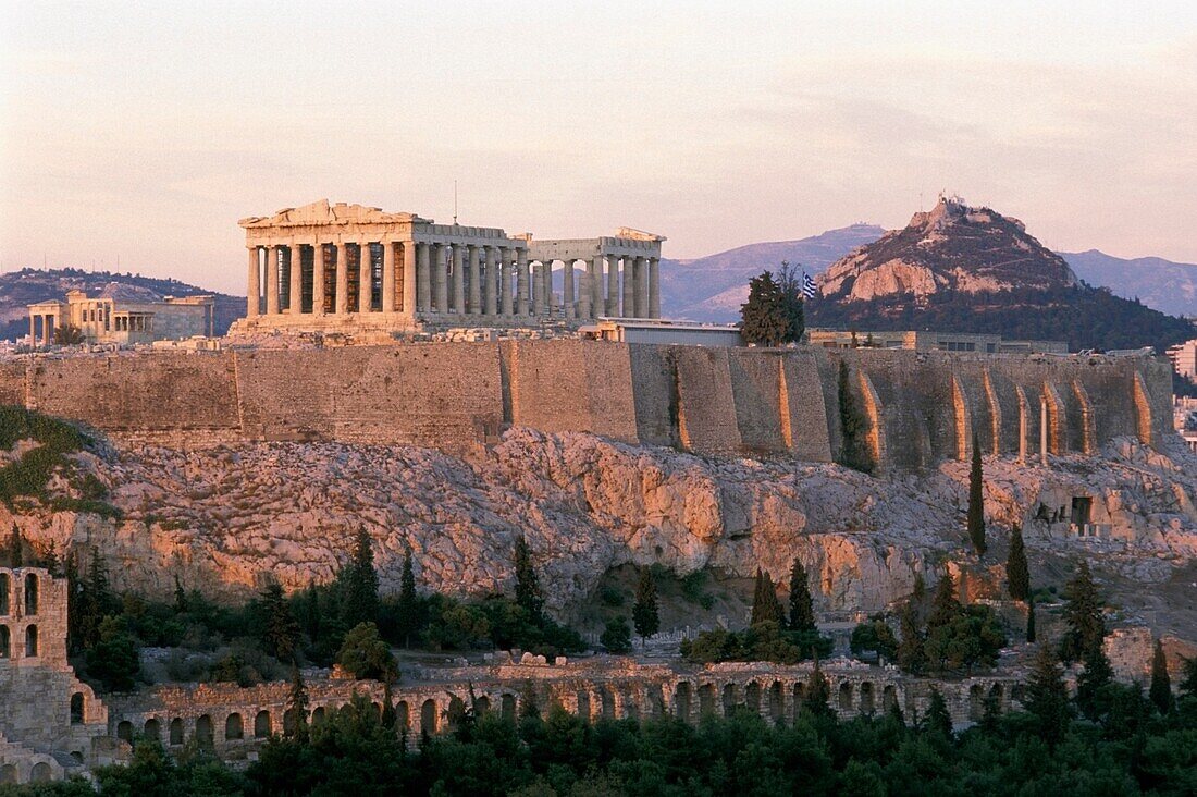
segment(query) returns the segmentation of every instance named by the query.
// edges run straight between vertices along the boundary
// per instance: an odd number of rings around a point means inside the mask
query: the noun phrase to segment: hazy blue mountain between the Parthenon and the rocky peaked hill
[[[883,233],[874,224],[852,224],[808,239],[752,243],[695,260],[662,259],[662,315],[723,324],[739,321],[751,277],[766,268],[777,271],[783,260],[803,266],[813,276]]]

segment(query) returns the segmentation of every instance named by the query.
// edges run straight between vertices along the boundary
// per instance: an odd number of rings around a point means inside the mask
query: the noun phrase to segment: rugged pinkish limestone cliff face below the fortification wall
[[[991,545],[1001,550],[1021,523],[1033,556],[1108,554],[1119,573],[1165,580],[1197,551],[1191,465],[1134,442],[1051,469],[986,458]],[[411,545],[421,586],[472,594],[511,587],[522,533],[558,610],[627,562],[745,578],[764,567],[784,584],[797,556],[824,608],[871,611],[907,594],[918,573],[932,582],[941,561],[967,558],[967,463],[876,479],[837,465],[703,458],[516,428],[468,461],[414,447],[297,442],[126,448],[80,455],[79,466],[108,485],[120,521],[48,509],[10,518],[0,507],[0,527],[17,523],[59,551],[97,545],[120,584],[157,594],[176,575],[224,597],[266,575],[288,588],[327,580],[359,527],[375,541],[384,591],[397,590]],[[1038,519],[1076,496],[1092,499],[1104,538]],[[996,568],[995,584],[1001,561],[982,563]]]

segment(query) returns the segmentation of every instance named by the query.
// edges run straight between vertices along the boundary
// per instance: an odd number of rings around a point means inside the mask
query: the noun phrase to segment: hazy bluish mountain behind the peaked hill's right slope
[[[1197,316],[1197,265],[1162,258],[1124,260],[1105,252],[1062,252],[1076,276],[1108,288],[1116,296],[1138,298],[1169,315]]]

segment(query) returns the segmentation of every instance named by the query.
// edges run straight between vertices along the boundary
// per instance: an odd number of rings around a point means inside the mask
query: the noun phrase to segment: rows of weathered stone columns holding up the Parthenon
[[[378,249],[381,270],[376,267]],[[251,246],[248,254],[247,313],[250,318],[284,312],[291,315],[412,314],[413,309],[420,314],[540,318],[559,313],[565,319],[661,316],[658,258],[625,256],[620,268],[620,258],[596,256],[587,262],[577,280],[575,261],[567,260],[558,306],[553,292],[553,261],[545,259],[530,265],[523,247],[424,242],[291,243]],[[305,265],[309,262],[310,266]],[[332,279],[329,268],[333,268]],[[351,271],[356,274],[356,285],[351,283]],[[332,288],[332,296],[328,296],[328,288]],[[356,295],[353,302],[351,290]]]

